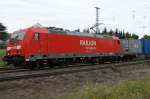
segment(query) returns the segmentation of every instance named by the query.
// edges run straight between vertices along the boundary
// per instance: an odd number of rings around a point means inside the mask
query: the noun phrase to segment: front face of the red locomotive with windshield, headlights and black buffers
[[[13,63],[17,65],[18,63],[23,62],[23,50],[22,43],[25,36],[25,31],[20,30],[14,32],[10,39],[7,41],[6,46],[6,56],[4,56],[3,61],[7,62],[7,64]]]

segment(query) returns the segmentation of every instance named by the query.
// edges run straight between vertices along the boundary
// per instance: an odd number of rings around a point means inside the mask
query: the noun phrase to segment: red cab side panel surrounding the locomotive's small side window
[[[40,39],[34,40],[34,33],[40,33]],[[48,30],[45,28],[29,28],[24,37],[24,53],[23,56],[28,58],[34,54],[47,54],[48,53]]]

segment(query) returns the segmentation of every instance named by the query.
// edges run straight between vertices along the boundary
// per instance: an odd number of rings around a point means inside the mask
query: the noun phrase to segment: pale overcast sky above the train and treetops
[[[8,32],[40,23],[67,29],[88,28],[100,10],[103,27],[150,34],[150,0],[1,0],[0,22]]]

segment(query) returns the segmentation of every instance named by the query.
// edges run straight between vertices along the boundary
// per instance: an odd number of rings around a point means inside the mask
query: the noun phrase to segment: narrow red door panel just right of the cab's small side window
[[[40,54],[48,53],[48,34],[40,33],[39,45],[40,45]]]

